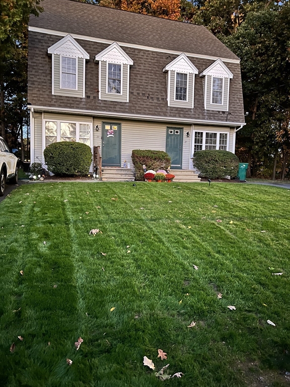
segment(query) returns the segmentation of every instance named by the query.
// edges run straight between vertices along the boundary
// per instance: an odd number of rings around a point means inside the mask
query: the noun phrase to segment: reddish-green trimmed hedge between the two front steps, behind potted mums
[[[147,170],[168,169],[171,159],[166,152],[134,149],[132,151],[132,162],[136,171],[136,180],[144,180],[143,165]]]

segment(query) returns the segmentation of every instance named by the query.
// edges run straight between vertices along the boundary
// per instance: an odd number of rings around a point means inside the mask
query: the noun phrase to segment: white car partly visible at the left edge
[[[4,195],[5,184],[18,182],[18,158],[10,152],[7,143],[0,137],[0,196]]]

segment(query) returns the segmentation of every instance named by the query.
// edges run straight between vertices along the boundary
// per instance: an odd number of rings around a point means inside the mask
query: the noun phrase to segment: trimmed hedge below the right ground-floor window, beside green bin
[[[239,170],[239,159],[228,151],[198,151],[193,155],[193,164],[201,176],[212,179],[235,177]]]

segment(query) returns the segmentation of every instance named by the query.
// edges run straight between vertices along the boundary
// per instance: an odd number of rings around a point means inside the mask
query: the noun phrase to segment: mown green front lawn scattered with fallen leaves
[[[0,385],[286,385],[289,203],[287,189],[223,183],[14,190],[0,204]],[[159,380],[167,363],[182,378]]]

